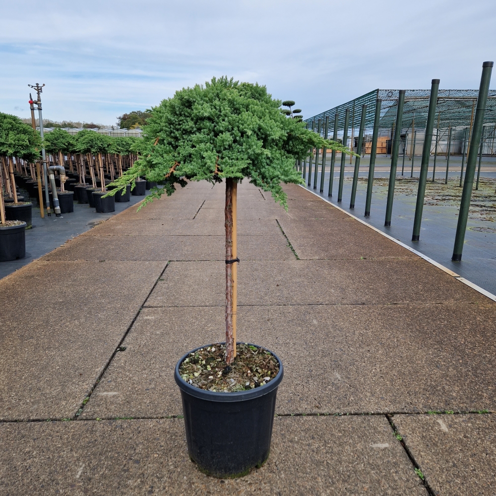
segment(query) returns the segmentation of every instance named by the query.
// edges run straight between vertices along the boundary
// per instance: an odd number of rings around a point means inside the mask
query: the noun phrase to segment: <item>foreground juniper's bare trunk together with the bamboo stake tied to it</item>
[[[226,179],[226,363],[236,356],[237,266],[236,206],[238,182]]]

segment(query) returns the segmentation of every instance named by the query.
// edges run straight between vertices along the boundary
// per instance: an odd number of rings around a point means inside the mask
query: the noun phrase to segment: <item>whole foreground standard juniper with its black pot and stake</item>
[[[225,184],[225,341],[188,351],[175,370],[189,456],[201,471],[217,477],[241,476],[267,459],[283,375],[274,353],[236,341],[238,183],[248,179],[286,207],[281,183],[303,183],[295,159],[310,147],[349,152],[298,119],[287,119],[280,106],[265,86],[226,77],[177,91],[152,109],[140,157],[109,193],[138,177],[162,185],[141,208],[187,180]]]

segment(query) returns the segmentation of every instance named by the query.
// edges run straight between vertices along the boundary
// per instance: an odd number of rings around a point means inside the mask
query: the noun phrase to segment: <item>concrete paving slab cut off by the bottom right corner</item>
[[[436,495],[496,494],[495,415],[395,415]]]

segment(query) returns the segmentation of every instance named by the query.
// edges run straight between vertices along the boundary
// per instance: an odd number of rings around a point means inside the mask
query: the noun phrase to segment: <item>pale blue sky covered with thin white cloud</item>
[[[265,84],[305,118],[375,88],[478,88],[494,0],[9,1],[0,111],[115,124],[212,76]],[[492,88],[496,88],[496,74]]]

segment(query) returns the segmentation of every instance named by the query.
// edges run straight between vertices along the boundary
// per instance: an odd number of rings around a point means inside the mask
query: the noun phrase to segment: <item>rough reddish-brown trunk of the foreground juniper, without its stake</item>
[[[233,334],[233,183],[226,179],[226,364],[234,360]]]

